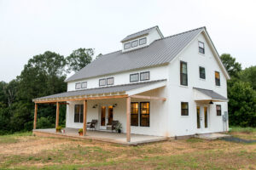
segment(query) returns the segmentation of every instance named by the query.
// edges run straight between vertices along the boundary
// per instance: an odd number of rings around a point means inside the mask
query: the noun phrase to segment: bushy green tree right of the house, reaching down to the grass
[[[230,124],[256,127],[256,92],[247,82],[236,81],[228,88]]]

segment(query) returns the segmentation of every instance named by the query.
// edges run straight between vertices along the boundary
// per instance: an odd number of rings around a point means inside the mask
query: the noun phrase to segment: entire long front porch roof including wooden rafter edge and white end
[[[84,90],[69,91],[61,94],[53,94],[44,96],[37,99],[32,99],[33,102],[40,103],[44,101],[68,101],[71,99],[90,99],[96,96],[115,96],[115,95],[134,95],[146,92],[154,88],[166,86],[166,79],[150,81],[150,82],[137,82],[117,86],[109,86],[104,88],[90,88]]]

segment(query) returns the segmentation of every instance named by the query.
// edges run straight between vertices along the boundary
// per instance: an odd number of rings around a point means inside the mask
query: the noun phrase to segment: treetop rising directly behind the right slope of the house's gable
[[[236,59],[230,54],[222,54],[220,59],[229,72],[230,77],[237,77],[238,73],[241,71],[241,64],[236,62]]]

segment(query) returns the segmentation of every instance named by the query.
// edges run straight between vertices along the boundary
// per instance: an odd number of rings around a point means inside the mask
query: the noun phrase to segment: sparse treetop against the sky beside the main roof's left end
[[[67,71],[80,71],[84,66],[90,64],[94,49],[92,48],[79,48],[73,51],[72,54],[67,56]]]

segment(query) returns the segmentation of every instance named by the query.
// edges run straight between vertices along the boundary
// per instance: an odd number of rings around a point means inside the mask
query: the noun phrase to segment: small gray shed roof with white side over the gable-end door
[[[195,100],[196,101],[220,101],[226,102],[229,99],[225,98],[223,95],[220,95],[213,90],[203,89],[203,88],[194,88],[195,89]]]

